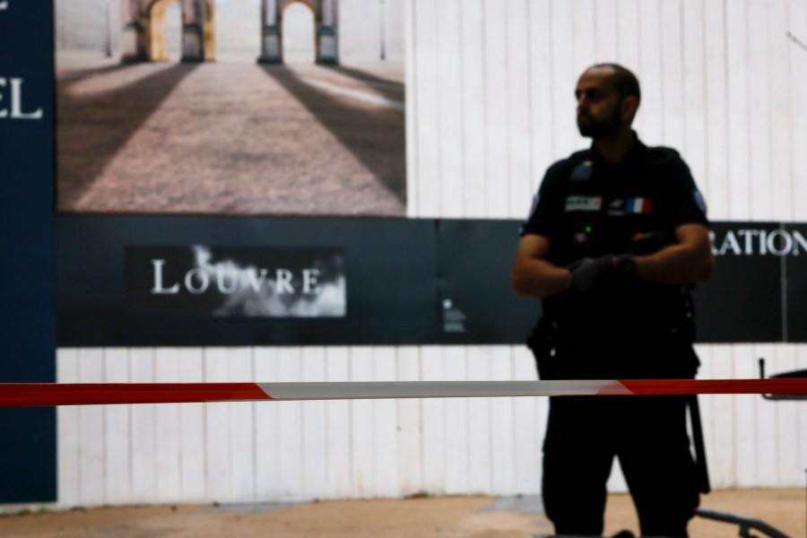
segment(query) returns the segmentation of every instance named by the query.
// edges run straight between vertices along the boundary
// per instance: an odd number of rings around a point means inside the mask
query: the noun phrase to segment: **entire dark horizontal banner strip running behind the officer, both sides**
[[[61,215],[59,344],[520,344],[518,221]],[[716,222],[701,343],[807,342],[807,227]]]

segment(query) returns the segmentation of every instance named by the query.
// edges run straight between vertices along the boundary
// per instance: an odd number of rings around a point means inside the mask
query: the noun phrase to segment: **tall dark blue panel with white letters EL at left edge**
[[[56,380],[53,9],[0,10],[0,382]],[[0,410],[0,502],[56,500],[56,412]]]

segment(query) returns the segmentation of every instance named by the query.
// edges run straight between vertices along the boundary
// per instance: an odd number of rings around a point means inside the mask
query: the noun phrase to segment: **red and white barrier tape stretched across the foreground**
[[[807,378],[313,383],[0,383],[0,407],[560,395],[807,395]]]

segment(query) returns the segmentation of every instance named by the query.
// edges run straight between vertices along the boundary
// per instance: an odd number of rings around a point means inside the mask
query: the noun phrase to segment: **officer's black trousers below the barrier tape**
[[[555,396],[542,494],[556,534],[601,535],[614,456],[644,536],[687,536],[699,504],[684,396]]]

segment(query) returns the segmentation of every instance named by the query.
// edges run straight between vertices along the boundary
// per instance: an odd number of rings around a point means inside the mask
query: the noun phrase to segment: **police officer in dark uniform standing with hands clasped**
[[[575,90],[591,148],[547,170],[513,266],[542,299],[530,338],[552,379],[692,378],[689,288],[713,256],[703,198],[677,152],[631,129],[640,91],[620,65],[594,65]],[[682,396],[552,397],[542,494],[557,534],[603,532],[614,456],[646,536],[686,536],[699,477]]]

